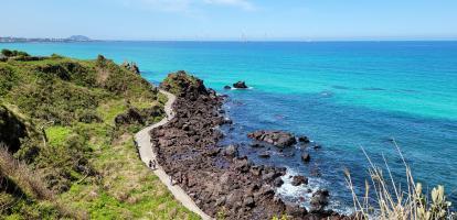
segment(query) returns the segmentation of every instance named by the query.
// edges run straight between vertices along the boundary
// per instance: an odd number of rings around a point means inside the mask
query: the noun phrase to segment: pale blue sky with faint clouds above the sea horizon
[[[0,36],[456,40],[456,0],[2,0]]]

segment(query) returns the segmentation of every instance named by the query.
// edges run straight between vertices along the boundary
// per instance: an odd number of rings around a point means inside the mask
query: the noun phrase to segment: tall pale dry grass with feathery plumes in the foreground
[[[451,213],[449,208],[451,204],[447,201],[444,186],[433,188],[431,194],[423,194],[422,184],[414,180],[410,166],[405,162],[400,147],[394,142],[394,145],[401,156],[405,167],[406,186],[395,182],[392,176],[389,164],[385,157],[382,168],[375,165],[365,154],[370,167],[370,180],[365,182],[365,191],[362,197],[355,194],[351,174],[346,170],[347,184],[351,189],[353,197],[353,206],[358,219],[380,219],[380,220],[450,220],[455,219],[455,213]],[[386,170],[387,175],[384,175]],[[387,177],[385,177],[387,176]],[[372,189],[371,189],[372,188]],[[374,190],[374,204],[370,202],[370,190]]]

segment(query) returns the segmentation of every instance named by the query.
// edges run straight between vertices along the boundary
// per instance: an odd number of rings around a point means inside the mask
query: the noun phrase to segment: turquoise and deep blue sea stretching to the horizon
[[[319,170],[321,176],[311,177],[310,187],[329,188],[334,208],[351,206],[344,168],[359,189],[368,177],[361,147],[381,165],[384,156],[401,179],[404,169],[392,140],[417,182],[445,185],[457,202],[457,42],[0,44],[3,47],[34,55],[104,54],[118,63],[135,61],[152,82],[185,69],[230,95],[225,109],[235,124],[223,128],[223,142],[245,143],[243,152],[253,160],[287,166],[291,173],[308,176]],[[252,89],[222,89],[237,80]],[[272,151],[270,160],[261,160],[261,150],[249,148],[246,138],[257,129],[305,134],[322,147]],[[311,154],[309,165],[300,162],[300,152]],[[280,193],[298,201],[306,188],[286,182]]]

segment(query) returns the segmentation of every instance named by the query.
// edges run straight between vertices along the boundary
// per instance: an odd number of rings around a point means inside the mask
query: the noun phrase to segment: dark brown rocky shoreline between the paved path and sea
[[[283,215],[291,219],[350,219],[323,209],[328,191],[317,194],[316,207],[321,208],[312,211],[284,202],[275,189],[283,184],[286,168],[255,165],[240,156],[235,145],[219,145],[223,134],[217,128],[231,121],[221,110],[224,97],[206,89],[202,80],[180,72],[169,75],[161,88],[174,90],[176,117],[150,132],[152,150],[167,174],[205,213],[224,219]]]

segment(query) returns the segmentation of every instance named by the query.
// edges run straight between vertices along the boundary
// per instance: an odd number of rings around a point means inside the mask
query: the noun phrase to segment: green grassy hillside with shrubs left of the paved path
[[[148,81],[103,56],[2,55],[1,218],[199,219],[137,155],[167,101]]]

